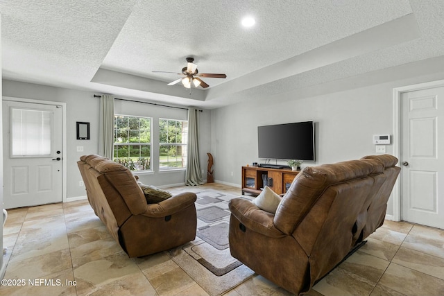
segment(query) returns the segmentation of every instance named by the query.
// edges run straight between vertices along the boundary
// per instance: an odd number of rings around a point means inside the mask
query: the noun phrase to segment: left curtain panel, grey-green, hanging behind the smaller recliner
[[[100,104],[99,155],[112,159],[114,146],[114,96],[103,94]]]

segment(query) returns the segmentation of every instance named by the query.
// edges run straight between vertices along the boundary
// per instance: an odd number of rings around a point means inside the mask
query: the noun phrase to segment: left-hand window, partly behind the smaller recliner
[[[151,118],[114,116],[114,162],[131,171],[151,170]]]

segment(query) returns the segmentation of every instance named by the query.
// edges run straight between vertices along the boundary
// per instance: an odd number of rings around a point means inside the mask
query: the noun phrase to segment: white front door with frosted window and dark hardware
[[[62,202],[62,107],[3,99],[5,209]]]

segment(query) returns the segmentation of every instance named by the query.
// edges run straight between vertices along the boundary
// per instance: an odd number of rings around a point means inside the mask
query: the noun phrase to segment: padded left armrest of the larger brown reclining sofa
[[[280,238],[286,236],[273,224],[274,215],[256,207],[253,202],[245,198],[233,198],[228,204],[231,214],[246,228],[264,236]]]

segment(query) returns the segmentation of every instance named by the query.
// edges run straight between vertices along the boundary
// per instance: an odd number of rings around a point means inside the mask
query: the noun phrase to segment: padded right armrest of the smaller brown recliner
[[[141,215],[153,218],[162,218],[172,215],[194,204],[197,197],[195,193],[184,192],[173,195],[171,198],[159,202],[157,204],[147,204],[146,211]]]

